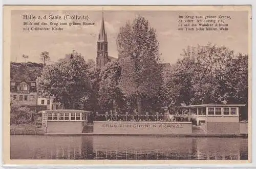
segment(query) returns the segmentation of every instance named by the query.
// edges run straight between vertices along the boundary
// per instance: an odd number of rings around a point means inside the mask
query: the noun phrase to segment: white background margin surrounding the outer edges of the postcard
[[[103,1],[103,0],[94,0],[94,1],[88,1],[88,0],[59,0],[59,1],[53,1],[53,0],[3,0],[1,3],[2,5],[252,5],[252,44],[251,44],[251,48],[252,48],[252,163],[248,163],[248,164],[220,164],[220,165],[216,165],[216,164],[175,164],[175,165],[83,165],[83,166],[63,166],[63,165],[58,165],[58,166],[54,166],[54,165],[31,165],[31,166],[23,166],[25,168],[28,168],[28,167],[37,167],[37,168],[46,168],[46,167],[51,167],[51,168],[67,168],[67,167],[78,167],[78,168],[82,168],[82,167],[94,167],[94,168],[107,168],[107,167],[110,167],[110,168],[127,168],[127,167],[130,167],[130,168],[140,168],[140,167],[151,167],[151,168],[170,168],[170,167],[182,167],[182,168],[186,168],[186,167],[200,167],[200,168],[215,168],[215,167],[218,167],[218,168],[227,168],[227,167],[230,167],[230,168],[254,168],[256,167],[256,156],[255,156],[255,153],[256,152],[256,147],[254,146],[254,143],[256,143],[256,138],[255,138],[255,131],[253,129],[256,129],[256,124],[254,124],[253,122],[256,122],[256,119],[254,119],[254,115],[253,115],[253,110],[255,110],[255,101],[254,101],[254,95],[253,94],[256,94],[253,90],[253,87],[254,85],[256,85],[255,83],[255,68],[253,66],[253,63],[256,61],[256,59],[254,59],[254,53],[255,53],[255,34],[254,34],[254,30],[255,30],[255,19],[254,19],[254,13],[255,13],[255,3],[256,1],[253,1],[253,0],[241,0],[241,1],[238,1],[238,0],[235,0],[235,1],[225,1],[225,0],[210,0],[210,1],[191,1],[191,0],[182,0],[182,1],[164,1],[164,0],[147,0],[147,1],[144,1],[144,2],[139,2],[138,0],[126,0],[126,1],[118,1],[118,0],[109,0],[108,2],[106,1]],[[1,8],[1,14],[3,15],[3,8]],[[1,17],[1,22],[3,23],[3,17]],[[0,47],[0,50],[2,51],[3,53],[3,27],[1,27],[0,29],[0,36],[1,36],[1,47]],[[3,54],[2,54],[3,55]],[[256,57],[256,56],[255,56]],[[3,57],[0,59],[0,65],[2,66],[3,65]],[[3,80],[3,69],[1,69],[1,73],[0,73],[0,76],[1,76],[1,80]],[[2,86],[2,89],[3,89],[3,81],[0,82],[1,86]],[[3,107],[3,90],[0,90],[0,93],[2,95],[1,97],[1,100],[0,100],[0,106]],[[3,108],[2,108],[3,109]],[[0,119],[2,120],[3,117],[2,117],[2,114],[3,114],[3,110],[2,110],[2,113],[0,113]],[[3,126],[1,125],[0,129],[2,130],[3,129]],[[3,139],[3,136],[2,134],[0,134],[0,149],[2,150],[3,149],[3,145],[2,145],[2,139]],[[0,159],[3,159],[3,155],[2,155],[2,151],[0,153]],[[2,160],[1,160],[1,164],[3,165],[2,163]],[[4,166],[5,168],[8,167],[7,165]],[[12,168],[16,168],[16,167],[21,167],[21,165],[17,166],[17,165],[12,165],[9,167],[12,167]],[[2,167],[1,167],[2,168]]]

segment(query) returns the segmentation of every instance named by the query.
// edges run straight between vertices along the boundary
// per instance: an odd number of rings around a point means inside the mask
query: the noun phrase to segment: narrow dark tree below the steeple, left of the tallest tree
[[[109,62],[100,73],[99,105],[104,111],[117,111],[123,107],[124,97],[118,88],[121,76],[121,67],[118,62]]]

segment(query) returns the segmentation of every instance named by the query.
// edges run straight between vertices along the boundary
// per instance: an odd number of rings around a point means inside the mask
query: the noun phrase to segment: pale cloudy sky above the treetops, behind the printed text
[[[25,32],[23,15],[88,15],[94,26],[62,26],[58,32]],[[174,64],[181,58],[183,49],[189,46],[206,45],[208,42],[226,46],[234,52],[248,54],[248,14],[241,11],[104,11],[105,30],[108,36],[109,55],[117,58],[116,38],[121,26],[136,16],[143,16],[156,30],[162,63]],[[178,31],[178,16],[231,16],[225,23],[229,31]],[[11,62],[41,62],[40,53],[48,51],[51,62],[56,62],[73,50],[86,60],[96,60],[96,43],[100,30],[102,11],[12,11],[11,13]],[[27,20],[29,21],[29,20]],[[37,20],[35,20],[37,21]],[[63,21],[63,20],[62,20]],[[61,22],[61,20],[59,21]],[[70,22],[70,21],[66,21]],[[40,25],[40,27],[42,27]],[[47,27],[47,26],[45,26]],[[49,27],[49,26],[48,26]],[[58,26],[57,26],[58,27]]]

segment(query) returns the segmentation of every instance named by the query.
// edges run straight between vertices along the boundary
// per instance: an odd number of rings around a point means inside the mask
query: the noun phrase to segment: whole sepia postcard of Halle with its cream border
[[[6,161],[250,162],[250,12],[5,6]]]

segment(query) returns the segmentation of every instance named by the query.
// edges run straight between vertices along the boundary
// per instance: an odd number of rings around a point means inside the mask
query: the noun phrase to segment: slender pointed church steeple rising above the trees
[[[102,68],[108,62],[109,62],[108,40],[106,39],[104,16],[103,16],[103,11],[102,11],[101,27],[100,27],[99,37],[98,37],[98,41],[97,41],[96,64],[99,68]]]

